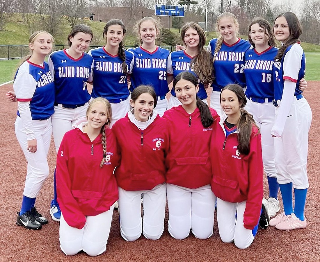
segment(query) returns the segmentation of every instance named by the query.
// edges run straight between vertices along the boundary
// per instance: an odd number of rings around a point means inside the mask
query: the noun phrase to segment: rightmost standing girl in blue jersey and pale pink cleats
[[[283,199],[284,212],[270,220],[280,230],[304,228],[304,208],[308,190],[308,132],[312,113],[299,89],[306,69],[305,54],[300,46],[300,22],[292,12],[280,14],[273,33],[282,47],[273,67],[276,118],[271,129],[275,143],[276,177]],[[294,209],[292,204],[294,189]]]

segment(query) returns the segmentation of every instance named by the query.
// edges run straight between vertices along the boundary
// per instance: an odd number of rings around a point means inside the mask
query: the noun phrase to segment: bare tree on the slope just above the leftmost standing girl
[[[53,36],[57,35],[60,21],[63,1],[41,0],[38,5],[38,13],[45,29]]]

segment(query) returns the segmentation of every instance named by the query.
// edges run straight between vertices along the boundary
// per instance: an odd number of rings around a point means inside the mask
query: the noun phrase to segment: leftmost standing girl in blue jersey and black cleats
[[[31,55],[19,66],[13,89],[18,101],[15,133],[27,159],[27,177],[16,224],[28,229],[41,229],[46,220],[35,207],[36,197],[49,175],[49,151],[54,112],[54,82],[44,58],[52,50],[53,37],[37,31],[29,38]]]

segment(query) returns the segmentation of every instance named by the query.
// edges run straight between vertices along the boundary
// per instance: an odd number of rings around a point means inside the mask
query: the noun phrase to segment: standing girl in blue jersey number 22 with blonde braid
[[[218,16],[216,31],[219,37],[211,39],[207,49],[214,56],[215,72],[210,107],[221,116],[221,89],[233,83],[245,88],[244,52],[250,48],[251,43],[237,36],[239,23],[233,13],[224,12]]]

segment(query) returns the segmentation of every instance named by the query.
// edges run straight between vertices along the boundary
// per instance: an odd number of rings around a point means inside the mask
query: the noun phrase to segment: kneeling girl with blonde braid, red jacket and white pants
[[[94,99],[86,115],[88,122],[68,131],[58,151],[59,239],[66,255],[83,250],[97,256],[106,250],[112,205],[118,199],[113,170],[119,157],[116,138],[108,128],[111,122],[108,100]]]

